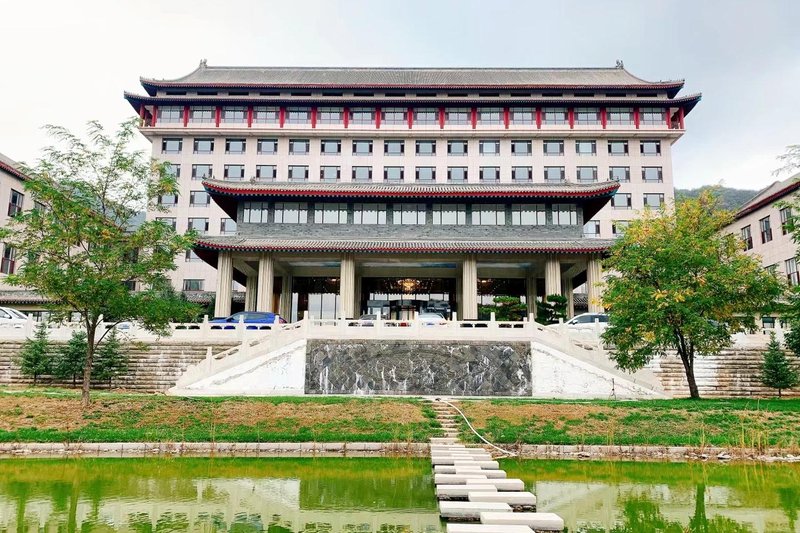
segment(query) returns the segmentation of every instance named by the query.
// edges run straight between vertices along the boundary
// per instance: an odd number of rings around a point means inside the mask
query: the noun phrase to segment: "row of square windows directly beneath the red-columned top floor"
[[[448,156],[469,155],[469,141],[464,139],[450,139],[437,141],[436,139],[417,139],[408,141],[413,144],[414,154],[418,156],[434,156],[442,153],[446,149]],[[608,155],[625,156],[630,154],[630,142],[627,140],[606,140],[605,153]],[[640,140],[639,154],[642,156],[661,155],[660,140]],[[192,139],[192,153],[194,154],[213,154],[217,146],[222,143],[215,142],[214,138],[194,138]],[[256,139],[256,153],[259,155],[278,155],[278,139]],[[383,145],[383,154],[387,156],[402,156],[406,154],[406,141],[403,139],[386,139],[374,141],[372,139],[353,139],[349,141],[351,154],[355,156],[369,156],[375,153],[376,146]],[[601,146],[602,146],[601,142]],[[248,141],[245,138],[225,139],[225,153],[233,155],[244,155],[247,152]],[[315,142],[316,145],[316,142]],[[342,154],[342,146],[347,146],[348,142],[341,139],[320,139],[319,154],[326,156],[336,156]],[[502,155],[501,147],[506,146],[510,154],[514,156],[533,155],[533,141],[530,139],[512,139],[502,141],[500,139],[480,139],[477,141],[478,154],[485,156]],[[542,154],[545,156],[563,156],[567,146],[564,139],[544,139],[541,141]],[[569,143],[574,149],[574,154],[579,156],[597,155],[598,141],[592,139],[579,139]],[[409,148],[410,148],[409,146]],[[473,145],[473,149],[475,146]],[[288,139],[284,150],[288,155],[309,155],[311,154],[311,139]],[[162,154],[183,153],[183,139],[180,137],[164,137],[161,139]]]

